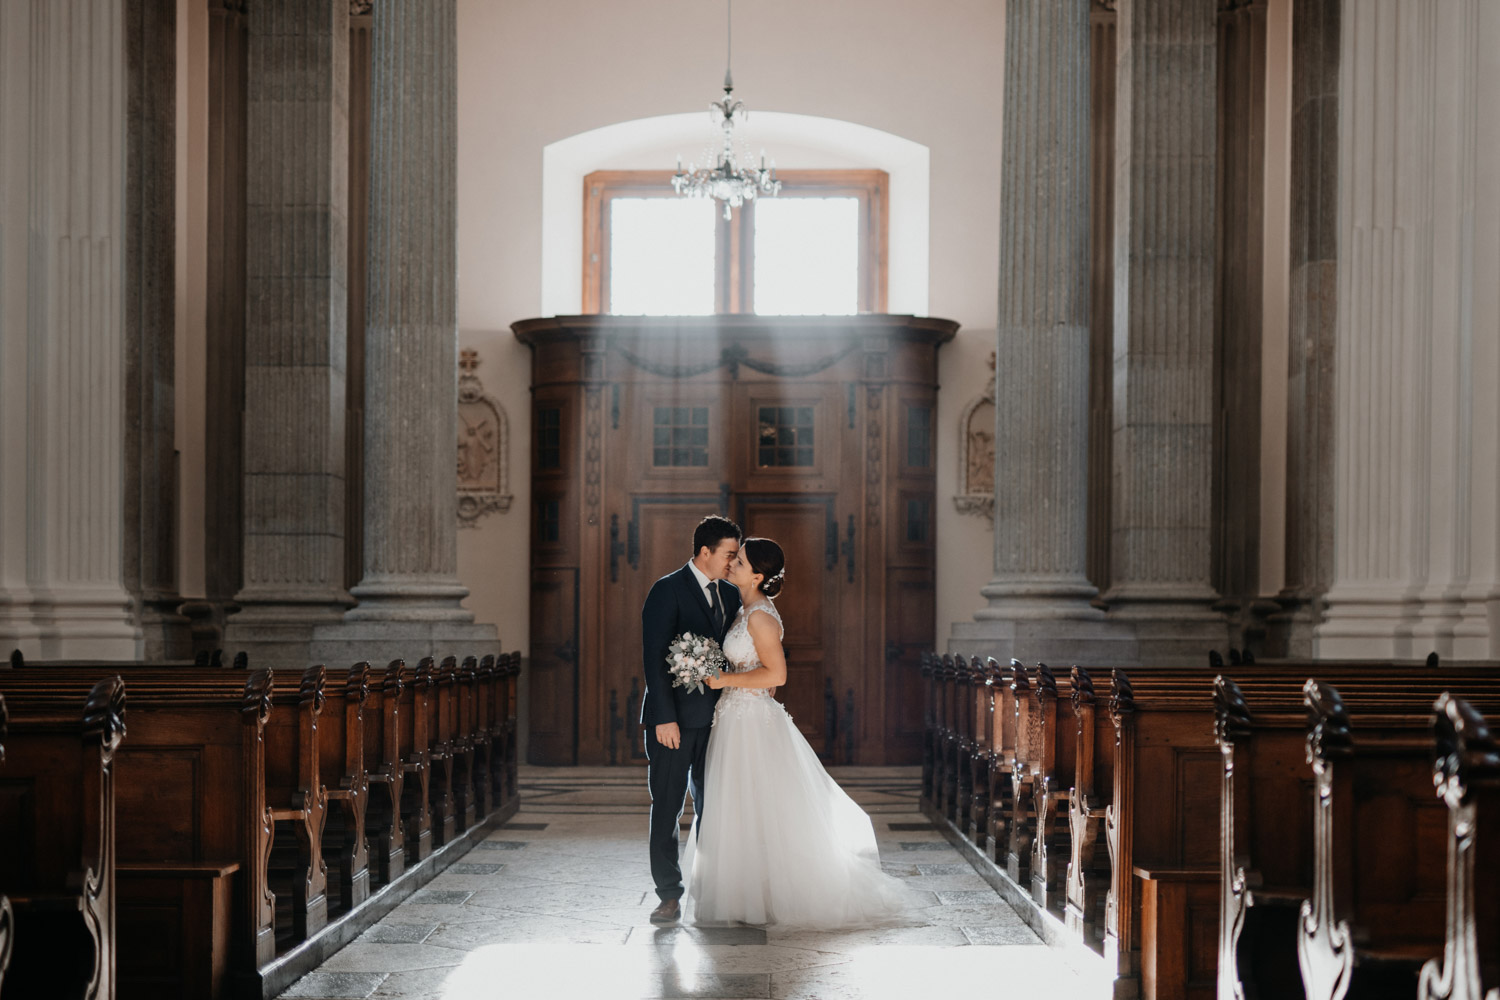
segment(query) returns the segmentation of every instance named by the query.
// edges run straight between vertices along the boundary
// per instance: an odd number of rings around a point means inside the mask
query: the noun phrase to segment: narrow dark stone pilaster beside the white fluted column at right
[[[1287,582],[1274,652],[1312,655],[1334,579],[1334,337],[1338,321],[1338,55],[1341,0],[1292,7]]]

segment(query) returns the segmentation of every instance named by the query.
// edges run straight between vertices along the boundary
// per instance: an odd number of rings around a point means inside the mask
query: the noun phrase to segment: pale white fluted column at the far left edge
[[[0,649],[134,657],[124,4],[0,4]]]

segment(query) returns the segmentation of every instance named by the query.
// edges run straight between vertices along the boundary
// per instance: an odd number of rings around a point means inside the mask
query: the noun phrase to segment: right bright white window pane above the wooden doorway
[[[754,310],[762,316],[860,312],[860,199],[754,204]]]

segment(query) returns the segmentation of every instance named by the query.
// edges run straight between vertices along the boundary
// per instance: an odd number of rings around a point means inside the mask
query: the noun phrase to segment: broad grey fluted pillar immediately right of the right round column
[[[1215,34],[1206,0],[1120,3],[1106,600],[1152,663],[1228,640],[1210,610]]]

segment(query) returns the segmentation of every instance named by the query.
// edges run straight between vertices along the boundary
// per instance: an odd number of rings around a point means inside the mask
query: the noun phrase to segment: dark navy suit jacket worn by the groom
[[[740,610],[740,591],[714,580],[724,609],[724,627],[714,628],[714,616],[698,586],[693,570],[684,565],[651,585],[645,607],[640,609],[642,666],[646,675],[646,696],[640,699],[640,724],[676,723],[682,729],[704,729],[714,723],[718,691],[704,687],[704,693],[672,687],[666,667],[666,651],[682,633],[711,636],[723,645],[729,624]]]

